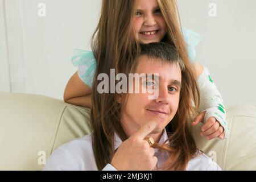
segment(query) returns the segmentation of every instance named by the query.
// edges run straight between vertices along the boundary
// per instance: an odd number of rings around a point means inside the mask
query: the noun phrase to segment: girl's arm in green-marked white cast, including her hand
[[[200,89],[200,111],[202,111],[192,123],[192,126],[203,122],[201,136],[207,139],[227,138],[229,135],[226,124],[226,111],[220,92],[209,75],[208,69],[199,62],[194,62],[193,67]]]

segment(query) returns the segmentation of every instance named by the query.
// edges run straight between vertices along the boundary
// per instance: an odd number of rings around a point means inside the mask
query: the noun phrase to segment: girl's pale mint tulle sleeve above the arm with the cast
[[[185,42],[187,44],[189,59],[193,62],[196,59],[195,47],[201,41],[203,36],[201,36],[197,32],[189,30],[188,28],[182,28],[182,32],[183,32]]]

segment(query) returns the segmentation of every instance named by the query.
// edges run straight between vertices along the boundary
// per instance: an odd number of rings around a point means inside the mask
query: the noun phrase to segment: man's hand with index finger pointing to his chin
[[[151,121],[142,126],[137,133],[125,140],[119,146],[112,159],[112,166],[120,171],[151,171],[158,159],[154,156],[155,150],[143,140],[156,127],[157,123]]]

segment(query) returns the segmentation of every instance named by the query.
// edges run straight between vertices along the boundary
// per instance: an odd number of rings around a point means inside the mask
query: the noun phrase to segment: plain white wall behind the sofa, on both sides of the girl
[[[39,3],[46,17],[39,17]],[[217,16],[210,17],[209,4]],[[72,50],[90,49],[101,0],[0,0],[0,90],[62,99],[76,68]],[[226,104],[256,103],[256,1],[178,0],[181,23],[204,36],[197,59]]]

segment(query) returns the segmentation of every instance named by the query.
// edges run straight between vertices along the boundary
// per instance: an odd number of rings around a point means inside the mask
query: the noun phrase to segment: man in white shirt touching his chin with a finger
[[[151,93],[142,92],[100,94],[96,81],[93,133],[57,148],[45,170],[220,170],[197,150],[189,133],[191,101],[198,107],[196,80],[175,47],[141,45],[138,59],[126,68],[121,65],[120,72],[153,74],[139,81],[139,90],[154,89],[158,97],[149,100]]]

